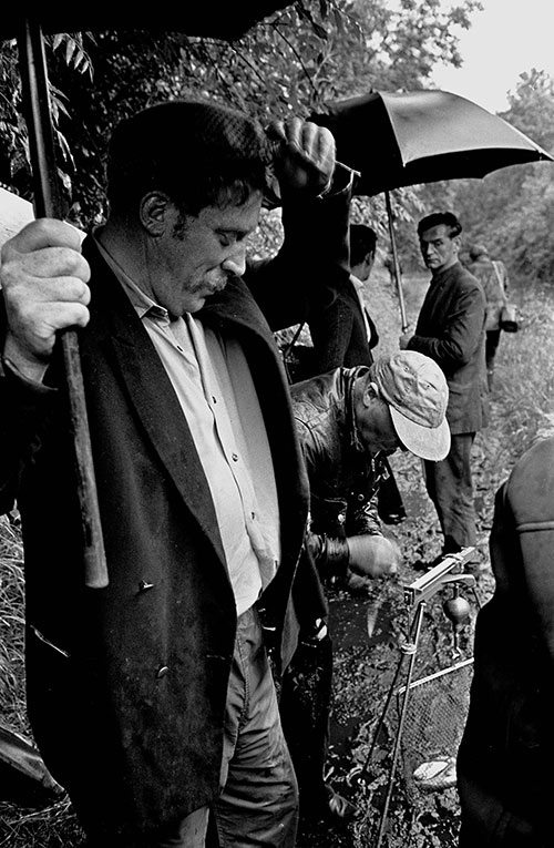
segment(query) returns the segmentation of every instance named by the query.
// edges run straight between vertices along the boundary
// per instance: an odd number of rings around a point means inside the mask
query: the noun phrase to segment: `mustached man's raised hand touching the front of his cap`
[[[335,172],[335,139],[329,130],[293,118],[270,124],[267,135],[281,142],[275,154],[281,190],[307,188],[319,194],[329,186]]]

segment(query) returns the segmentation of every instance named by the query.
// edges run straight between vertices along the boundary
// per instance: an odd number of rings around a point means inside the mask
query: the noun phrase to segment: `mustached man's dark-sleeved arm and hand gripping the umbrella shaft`
[[[60,221],[25,226],[0,264],[0,512],[13,507],[21,469],[60,402],[44,385],[57,333],[89,319],[89,266],[80,237]]]

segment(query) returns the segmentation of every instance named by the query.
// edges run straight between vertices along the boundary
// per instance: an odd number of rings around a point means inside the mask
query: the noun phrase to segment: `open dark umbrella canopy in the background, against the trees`
[[[554,161],[503,119],[448,91],[376,91],[329,104],[311,120],[331,130],[338,159],[361,172],[356,193],[368,196]]]

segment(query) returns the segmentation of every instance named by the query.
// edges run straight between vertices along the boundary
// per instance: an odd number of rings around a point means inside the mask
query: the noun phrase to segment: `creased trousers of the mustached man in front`
[[[194,779],[194,777],[192,778]],[[211,807],[144,840],[111,839],[94,848],[294,848],[298,785],[283,735],[277,693],[252,607],[239,616],[227,693],[222,794]]]

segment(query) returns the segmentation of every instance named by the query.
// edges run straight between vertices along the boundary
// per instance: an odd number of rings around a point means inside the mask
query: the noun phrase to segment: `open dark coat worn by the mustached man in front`
[[[85,242],[91,321],[81,358],[110,585],[83,588],[64,390],[0,379],[0,511],[22,515],[28,704],[53,776],[141,828],[218,790],[236,611],[207,481],[175,392],[121,286]],[[307,517],[286,377],[240,282],[199,314],[238,338],[273,452],[283,558],[263,599],[283,651]],[[61,362],[49,368],[63,387]],[[32,447],[30,447],[32,446]]]

